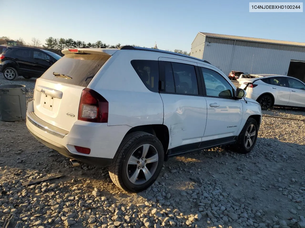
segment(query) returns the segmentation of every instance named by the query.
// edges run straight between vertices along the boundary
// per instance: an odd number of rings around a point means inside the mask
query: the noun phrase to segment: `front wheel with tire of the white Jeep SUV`
[[[249,118],[242,128],[236,144],[232,146],[233,150],[240,154],[249,153],[256,143],[257,133],[258,125],[256,120]]]

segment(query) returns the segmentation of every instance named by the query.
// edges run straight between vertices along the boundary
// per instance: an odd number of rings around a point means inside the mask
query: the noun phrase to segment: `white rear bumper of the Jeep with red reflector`
[[[41,143],[60,154],[96,166],[108,166],[122,139],[131,128],[127,125],[107,126],[107,123],[89,123],[77,120],[70,131],[55,127],[38,118],[33,101],[29,102],[26,125]],[[90,148],[90,154],[79,153],[74,146]]]

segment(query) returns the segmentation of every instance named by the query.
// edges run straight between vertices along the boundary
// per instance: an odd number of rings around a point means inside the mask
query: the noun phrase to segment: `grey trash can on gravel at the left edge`
[[[26,118],[27,105],[25,85],[0,85],[0,119],[12,122]]]

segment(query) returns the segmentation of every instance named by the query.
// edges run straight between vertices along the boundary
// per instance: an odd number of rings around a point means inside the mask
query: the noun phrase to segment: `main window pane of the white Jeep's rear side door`
[[[176,93],[198,95],[195,66],[172,62]]]

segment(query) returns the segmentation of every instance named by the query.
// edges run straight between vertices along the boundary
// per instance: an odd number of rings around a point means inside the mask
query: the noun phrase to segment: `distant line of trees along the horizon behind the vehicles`
[[[0,37],[0,44],[6,44],[6,40],[10,40],[7,36]],[[16,40],[18,42],[18,46],[25,46],[25,47],[36,47],[41,48],[45,50],[52,51],[56,54],[63,55],[61,53],[61,50],[66,48],[119,48],[122,46],[120,43],[117,43],[115,45],[110,45],[103,43],[101,40],[96,41],[95,43],[85,43],[81,40],[73,40],[72,38],[65,39],[65,38],[53,38],[50,36],[48,39],[45,40],[45,44],[41,45],[41,41],[35,37],[31,39],[30,43],[26,43],[21,37]],[[126,44],[133,47],[141,47],[135,44]],[[154,47],[152,47],[154,48]],[[171,50],[167,50],[171,51]],[[174,52],[184,54],[184,55],[190,55],[190,52],[182,51],[175,49]]]

